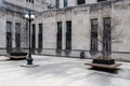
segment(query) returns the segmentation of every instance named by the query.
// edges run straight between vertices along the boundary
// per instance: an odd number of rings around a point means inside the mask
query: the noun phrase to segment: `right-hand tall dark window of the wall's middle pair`
[[[66,49],[72,49],[72,22],[66,22]]]

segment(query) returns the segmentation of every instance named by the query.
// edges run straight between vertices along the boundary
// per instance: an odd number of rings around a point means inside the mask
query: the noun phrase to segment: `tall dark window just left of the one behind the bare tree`
[[[91,51],[98,51],[98,18],[91,19]]]

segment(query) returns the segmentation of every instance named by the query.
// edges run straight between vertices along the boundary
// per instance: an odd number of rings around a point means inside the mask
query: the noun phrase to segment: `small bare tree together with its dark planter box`
[[[102,56],[98,57],[96,59],[93,59],[92,63],[115,64],[115,60],[112,59],[110,57],[110,48],[112,48],[112,43],[120,43],[121,42],[120,38],[123,37],[122,31],[119,30],[117,31],[116,28],[119,25],[119,22],[120,20],[117,20],[116,17],[113,19],[110,19],[110,17],[105,17],[103,18],[103,26],[100,24],[98,25],[99,26],[98,41],[102,45]]]

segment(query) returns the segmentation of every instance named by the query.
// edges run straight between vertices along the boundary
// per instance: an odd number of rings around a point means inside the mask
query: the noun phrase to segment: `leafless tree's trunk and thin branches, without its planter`
[[[99,23],[98,27],[98,35],[99,42],[102,44],[102,55],[103,59],[108,59],[107,56],[107,44],[112,47],[112,43],[120,43],[121,38],[125,35],[122,34],[122,30],[119,30],[117,26],[120,25],[120,20],[115,18],[107,17],[106,20],[104,19],[103,24]]]

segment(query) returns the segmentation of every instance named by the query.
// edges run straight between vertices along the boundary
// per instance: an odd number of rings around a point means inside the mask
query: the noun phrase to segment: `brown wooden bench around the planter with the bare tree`
[[[116,69],[117,67],[121,66],[121,63],[114,63],[114,64],[84,63],[84,64],[95,68],[104,68],[104,69]]]

